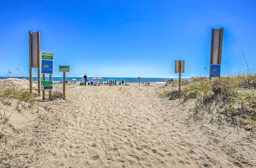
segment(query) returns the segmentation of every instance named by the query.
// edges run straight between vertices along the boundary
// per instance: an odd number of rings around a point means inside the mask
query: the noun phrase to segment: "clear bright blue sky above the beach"
[[[54,53],[67,76],[207,75],[212,28],[224,27],[221,74],[256,65],[256,1],[0,1],[0,76],[29,71],[28,32],[41,32],[41,52]],[[243,65],[242,65],[243,63]],[[33,76],[36,76],[34,69]]]

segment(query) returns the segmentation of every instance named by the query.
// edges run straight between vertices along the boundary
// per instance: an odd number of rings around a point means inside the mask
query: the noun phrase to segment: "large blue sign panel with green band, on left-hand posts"
[[[41,73],[53,73],[53,53],[42,52]]]

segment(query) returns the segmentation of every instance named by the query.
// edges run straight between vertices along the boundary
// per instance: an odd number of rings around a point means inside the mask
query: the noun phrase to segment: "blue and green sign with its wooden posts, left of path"
[[[53,53],[42,52],[41,59],[42,80],[45,81],[46,73],[49,73],[49,80],[52,80],[53,73]],[[45,90],[49,90],[49,99],[52,96],[52,86],[42,88],[42,99],[45,100]]]

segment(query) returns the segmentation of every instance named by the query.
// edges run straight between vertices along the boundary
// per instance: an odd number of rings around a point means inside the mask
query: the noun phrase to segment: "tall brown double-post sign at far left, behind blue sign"
[[[40,32],[29,32],[29,90],[33,90],[33,68],[37,68],[37,87],[40,96]]]

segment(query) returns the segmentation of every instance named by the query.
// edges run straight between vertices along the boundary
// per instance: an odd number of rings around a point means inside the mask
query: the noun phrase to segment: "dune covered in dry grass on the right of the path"
[[[256,74],[233,75],[206,79],[193,78],[182,89],[182,100],[194,95],[189,117],[208,118],[210,122],[236,125],[256,130]]]

